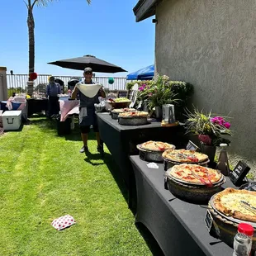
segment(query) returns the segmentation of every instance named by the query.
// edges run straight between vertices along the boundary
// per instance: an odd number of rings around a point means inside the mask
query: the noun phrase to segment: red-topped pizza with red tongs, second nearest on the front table
[[[183,182],[206,185],[206,187],[212,187],[213,183],[218,183],[223,178],[217,170],[197,164],[174,165],[168,175]]]

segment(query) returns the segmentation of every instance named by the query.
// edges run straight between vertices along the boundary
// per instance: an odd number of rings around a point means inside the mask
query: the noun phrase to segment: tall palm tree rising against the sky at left
[[[55,0],[23,0],[27,7],[27,27],[28,27],[28,38],[29,38],[29,74],[35,71],[35,21],[33,16],[33,8],[35,5],[39,7],[46,7],[49,2]],[[88,4],[91,0],[87,0]],[[31,78],[29,78],[31,80]]]

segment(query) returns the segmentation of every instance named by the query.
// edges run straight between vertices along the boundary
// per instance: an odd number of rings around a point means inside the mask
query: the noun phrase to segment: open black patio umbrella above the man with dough
[[[61,59],[48,64],[54,64],[66,69],[77,69],[83,70],[87,67],[92,68],[93,72],[102,73],[116,73],[116,72],[127,72],[125,69],[111,64],[105,60],[97,59],[92,55],[84,55],[83,57],[73,59]]]

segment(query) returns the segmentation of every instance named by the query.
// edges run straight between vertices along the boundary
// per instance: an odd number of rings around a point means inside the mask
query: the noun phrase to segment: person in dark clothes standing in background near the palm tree
[[[48,98],[48,116],[52,117],[59,113],[59,97],[61,89],[59,83],[55,83],[55,77],[50,76],[49,84],[46,87],[46,97]]]

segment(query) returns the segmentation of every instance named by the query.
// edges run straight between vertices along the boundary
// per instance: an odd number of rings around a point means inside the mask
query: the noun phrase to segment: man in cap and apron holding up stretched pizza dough
[[[92,69],[91,68],[85,68],[83,72],[84,81],[83,83],[87,84],[93,84],[92,82]],[[81,137],[83,140],[83,147],[80,149],[80,153],[88,152],[88,132],[90,131],[90,126],[93,127],[94,132],[96,133],[97,138],[97,151],[102,153],[103,152],[103,146],[101,145],[99,130],[97,126],[97,116],[95,113],[95,103],[99,103],[98,97],[106,97],[106,93],[100,87],[97,92],[92,97],[85,96],[83,92],[81,92],[81,88],[79,89],[81,83],[77,83],[73,89],[71,98],[75,99],[77,96],[77,93],[79,93],[79,126],[81,130]]]

